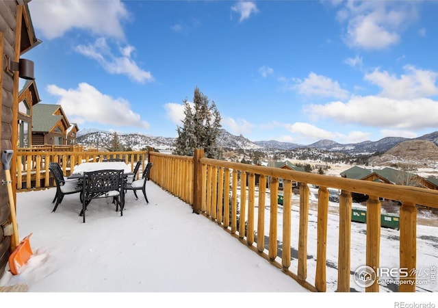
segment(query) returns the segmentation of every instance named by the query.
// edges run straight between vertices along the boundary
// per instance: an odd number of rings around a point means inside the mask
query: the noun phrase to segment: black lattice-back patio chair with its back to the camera
[[[96,198],[113,198],[116,211],[120,207],[120,216],[123,216],[125,205],[123,170],[97,170],[83,172],[82,210],[79,214],[85,222],[85,213],[88,205]]]

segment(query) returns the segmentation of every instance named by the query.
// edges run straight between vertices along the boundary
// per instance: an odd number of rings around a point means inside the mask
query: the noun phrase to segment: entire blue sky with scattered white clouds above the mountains
[[[79,129],[176,137],[198,87],[222,127],[310,144],[438,130],[438,1],[29,3],[41,103]]]

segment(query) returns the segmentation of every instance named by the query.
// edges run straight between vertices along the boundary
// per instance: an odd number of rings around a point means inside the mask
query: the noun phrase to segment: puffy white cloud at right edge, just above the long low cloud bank
[[[438,73],[416,69],[413,66],[404,66],[404,70],[406,74],[398,78],[387,71],[376,69],[365,75],[365,80],[382,88],[380,96],[391,99],[419,99],[438,94],[438,88],[435,86]]]

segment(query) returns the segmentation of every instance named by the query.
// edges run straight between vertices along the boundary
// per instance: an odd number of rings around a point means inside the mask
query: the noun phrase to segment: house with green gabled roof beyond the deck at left
[[[32,112],[32,145],[76,144],[79,128],[68,122],[61,105],[37,104]]]

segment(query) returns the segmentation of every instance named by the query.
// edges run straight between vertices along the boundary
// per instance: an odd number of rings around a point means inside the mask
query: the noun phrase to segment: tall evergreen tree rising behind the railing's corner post
[[[218,146],[221,116],[214,102],[197,87],[194,89],[193,108],[184,101],[185,118],[183,127],[177,127],[178,137],[175,141],[177,155],[193,155],[194,149],[204,149],[204,154],[209,158],[219,158],[222,149]]]

